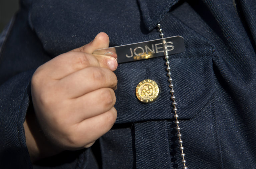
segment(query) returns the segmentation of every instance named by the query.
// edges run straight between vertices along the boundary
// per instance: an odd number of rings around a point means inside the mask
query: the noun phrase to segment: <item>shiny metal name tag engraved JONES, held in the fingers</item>
[[[98,49],[93,52],[96,55],[107,55],[117,58],[118,63],[132,62],[141,59],[149,59],[183,52],[184,39],[181,36],[162,38],[152,41]]]

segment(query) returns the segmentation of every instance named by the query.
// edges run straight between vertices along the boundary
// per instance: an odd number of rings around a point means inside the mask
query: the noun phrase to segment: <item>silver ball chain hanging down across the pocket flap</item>
[[[161,28],[161,25],[160,24],[158,24],[157,25],[157,28],[158,28],[158,32],[160,33],[159,34],[159,36],[161,37],[161,38],[163,38],[163,36],[164,36],[164,34],[163,34],[163,29]],[[172,84],[172,78],[171,78],[171,72],[170,72],[170,70],[171,70],[171,67],[169,66],[169,64],[170,64],[170,62],[168,61],[168,59],[169,59],[169,55],[168,55],[168,53],[167,53],[167,51],[165,50],[164,51],[164,56],[165,56],[165,60],[166,60],[166,62],[165,62],[165,65],[166,65],[166,71],[168,72],[167,73],[167,77],[169,78],[168,79],[168,82],[170,83],[170,85],[169,85],[169,88],[171,89],[170,90],[170,94],[172,95],[171,96],[171,100],[172,100],[172,106],[173,106],[173,112],[174,112],[174,118],[175,118],[175,124],[176,124],[176,130],[177,130],[177,132],[178,132],[178,134],[177,134],[177,136],[178,136],[178,138],[179,138],[179,144],[180,144],[180,151],[181,151],[181,157],[182,157],[182,164],[183,164],[183,169],[187,169],[188,167],[186,166],[186,160],[185,160],[185,153],[184,153],[184,147],[182,146],[182,143],[183,143],[183,141],[181,140],[181,129],[180,129],[180,126],[179,126],[179,120],[178,120],[178,118],[179,118],[179,116],[178,116],[178,114],[177,114],[177,111],[178,111],[178,109],[177,109],[177,103],[175,102],[175,96],[174,96],[174,89],[173,89],[173,84]]]

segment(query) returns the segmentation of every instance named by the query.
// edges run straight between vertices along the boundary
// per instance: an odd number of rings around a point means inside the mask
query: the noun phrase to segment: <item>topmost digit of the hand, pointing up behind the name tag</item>
[[[93,41],[91,41],[90,43],[80,48],[74,49],[73,51],[92,54],[93,51],[97,49],[108,48],[108,45],[109,45],[108,35],[104,32],[100,32],[98,33],[98,35],[96,35]]]

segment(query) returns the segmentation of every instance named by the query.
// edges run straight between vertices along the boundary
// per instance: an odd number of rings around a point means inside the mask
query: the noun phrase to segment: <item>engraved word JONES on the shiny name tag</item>
[[[171,51],[174,49],[174,46],[172,44],[173,44],[173,42],[169,41],[169,42],[165,42],[165,43],[152,44],[151,48],[148,47],[147,45],[145,45],[144,48],[136,47],[133,50],[132,50],[132,48],[130,48],[131,54],[129,56],[126,54],[125,56],[127,58],[131,58],[131,57],[133,57],[133,55],[141,56],[141,55],[145,54],[145,52],[146,52],[146,55],[148,55],[148,52],[161,53],[161,52],[164,52],[164,50]]]

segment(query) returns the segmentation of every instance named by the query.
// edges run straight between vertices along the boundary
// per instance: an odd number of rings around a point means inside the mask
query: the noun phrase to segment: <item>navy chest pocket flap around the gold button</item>
[[[170,72],[176,96],[179,119],[191,119],[205,106],[215,91],[213,47],[206,41],[200,47],[185,40],[185,51],[170,55]],[[115,108],[116,123],[173,119],[170,83],[164,57],[124,63],[115,72],[118,78]],[[136,97],[136,86],[150,79],[159,87],[158,98],[142,103]]]

